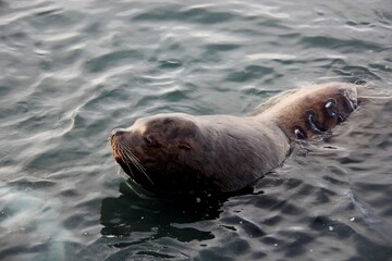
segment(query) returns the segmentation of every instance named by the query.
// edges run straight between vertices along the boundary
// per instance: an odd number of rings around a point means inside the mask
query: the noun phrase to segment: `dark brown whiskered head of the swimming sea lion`
[[[173,187],[179,184],[192,186],[192,170],[186,167],[193,150],[199,150],[195,139],[200,129],[189,117],[158,114],[139,119],[126,129],[113,129],[110,142],[115,161],[148,190],[176,190]]]

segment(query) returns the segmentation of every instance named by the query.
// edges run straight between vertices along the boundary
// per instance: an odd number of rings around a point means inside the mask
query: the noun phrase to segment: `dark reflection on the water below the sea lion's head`
[[[203,226],[197,223],[218,219],[222,212],[222,199],[195,197],[182,201],[156,198],[152,195],[140,197],[140,194],[130,191],[128,186],[135,185],[132,181],[124,182],[121,184],[121,196],[102,200],[101,234],[122,238],[114,244],[117,247],[162,237],[183,243],[213,238],[211,232],[201,229]]]

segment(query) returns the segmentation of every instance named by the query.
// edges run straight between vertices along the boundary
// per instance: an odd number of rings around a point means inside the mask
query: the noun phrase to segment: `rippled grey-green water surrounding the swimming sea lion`
[[[0,0],[0,260],[392,260],[390,0]],[[330,80],[378,98],[250,192],[177,206],[112,160],[139,116]]]

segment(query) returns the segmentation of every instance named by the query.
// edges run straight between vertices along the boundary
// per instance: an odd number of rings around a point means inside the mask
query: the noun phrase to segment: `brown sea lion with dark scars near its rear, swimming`
[[[273,98],[256,115],[158,114],[110,135],[115,161],[155,192],[241,190],[279,166],[293,139],[330,130],[357,107],[353,84]]]

